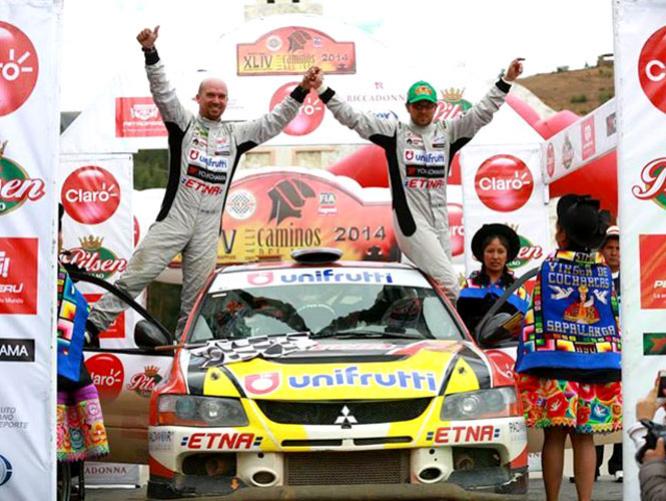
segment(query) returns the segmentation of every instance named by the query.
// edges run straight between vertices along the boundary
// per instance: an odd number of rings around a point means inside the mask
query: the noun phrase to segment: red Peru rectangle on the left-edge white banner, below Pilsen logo
[[[0,238],[0,314],[37,313],[36,238]]]

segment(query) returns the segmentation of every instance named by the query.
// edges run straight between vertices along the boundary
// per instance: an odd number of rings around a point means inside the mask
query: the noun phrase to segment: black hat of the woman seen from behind
[[[564,195],[557,203],[557,222],[577,247],[597,249],[610,224],[608,211],[589,195]]]

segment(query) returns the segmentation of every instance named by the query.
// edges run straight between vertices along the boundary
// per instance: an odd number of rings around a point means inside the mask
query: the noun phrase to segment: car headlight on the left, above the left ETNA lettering
[[[243,406],[235,398],[161,395],[157,401],[161,425],[247,426]]]

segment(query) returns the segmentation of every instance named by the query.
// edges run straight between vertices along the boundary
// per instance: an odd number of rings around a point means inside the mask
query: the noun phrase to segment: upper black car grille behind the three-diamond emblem
[[[358,424],[394,423],[416,419],[426,410],[431,398],[405,400],[344,400],[330,402],[284,402],[256,400],[264,415],[281,424],[335,424],[347,407]]]

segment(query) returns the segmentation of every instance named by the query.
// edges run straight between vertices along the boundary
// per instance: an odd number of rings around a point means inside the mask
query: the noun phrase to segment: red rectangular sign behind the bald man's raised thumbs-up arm
[[[164,137],[162,122],[152,97],[116,98],[116,137]]]

